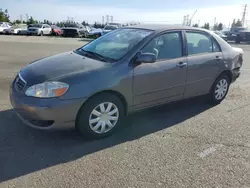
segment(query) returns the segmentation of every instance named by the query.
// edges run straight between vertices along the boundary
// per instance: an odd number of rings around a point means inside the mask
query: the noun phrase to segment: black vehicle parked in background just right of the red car
[[[63,37],[86,37],[88,30],[82,24],[69,23],[62,28]]]

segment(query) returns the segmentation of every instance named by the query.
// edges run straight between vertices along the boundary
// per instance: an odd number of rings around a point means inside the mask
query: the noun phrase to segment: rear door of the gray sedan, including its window
[[[186,31],[187,86],[185,97],[209,92],[220,71],[223,54],[218,42],[207,32]]]

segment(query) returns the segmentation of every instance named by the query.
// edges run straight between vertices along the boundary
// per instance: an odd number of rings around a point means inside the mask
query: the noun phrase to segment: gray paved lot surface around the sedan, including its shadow
[[[241,77],[222,104],[203,98],[133,116],[112,137],[24,126],[8,89],[29,62],[82,39],[0,36],[0,187],[250,187],[250,45]]]

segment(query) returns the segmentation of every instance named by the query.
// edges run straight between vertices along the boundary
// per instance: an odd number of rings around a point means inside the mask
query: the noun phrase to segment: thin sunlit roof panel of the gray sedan
[[[198,27],[189,27],[189,26],[181,26],[181,25],[164,25],[164,24],[140,24],[134,26],[127,26],[126,28],[138,28],[138,29],[149,29],[154,31],[161,30],[199,30],[199,31],[208,31],[205,29],[201,29]]]

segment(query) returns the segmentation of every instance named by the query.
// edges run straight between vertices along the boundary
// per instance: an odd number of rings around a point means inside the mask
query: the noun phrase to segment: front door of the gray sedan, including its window
[[[154,53],[154,63],[134,68],[135,108],[144,108],[183,98],[187,58],[184,56],[181,31],[167,32],[152,39],[142,53]]]

